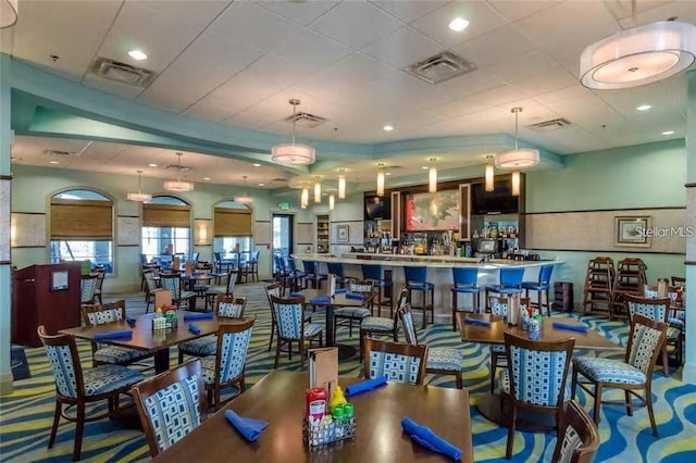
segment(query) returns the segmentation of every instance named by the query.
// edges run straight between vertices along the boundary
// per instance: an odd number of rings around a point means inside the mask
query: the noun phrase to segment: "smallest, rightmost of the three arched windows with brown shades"
[[[229,255],[251,251],[251,209],[234,201],[221,201],[213,210],[213,252]]]

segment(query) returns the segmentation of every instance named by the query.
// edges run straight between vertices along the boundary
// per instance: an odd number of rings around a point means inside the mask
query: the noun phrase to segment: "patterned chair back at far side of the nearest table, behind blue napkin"
[[[387,377],[387,380],[422,385],[425,375],[427,346],[365,339],[365,377]]]

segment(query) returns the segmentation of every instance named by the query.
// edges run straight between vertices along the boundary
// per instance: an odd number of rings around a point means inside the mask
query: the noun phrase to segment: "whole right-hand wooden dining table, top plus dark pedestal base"
[[[563,325],[567,328],[558,327]],[[583,330],[568,329],[569,325]],[[523,338],[530,337],[529,329],[523,329],[520,324],[509,325],[505,317],[500,315],[458,312],[457,326],[459,327],[461,340],[464,342],[505,346],[505,333]],[[623,351],[625,349],[577,320],[560,316],[542,317],[536,340],[557,342],[568,338],[575,340],[575,349],[591,351]],[[499,393],[485,393],[478,398],[476,405],[485,417],[500,426],[507,426],[509,403],[502,399]],[[552,414],[536,410],[525,410],[524,413],[519,413],[515,423],[518,429],[532,433],[545,433],[555,426]]]

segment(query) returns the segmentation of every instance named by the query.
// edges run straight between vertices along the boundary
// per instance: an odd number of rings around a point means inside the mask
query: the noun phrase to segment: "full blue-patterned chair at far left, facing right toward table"
[[[75,338],[70,335],[49,336],[40,325],[37,334],[55,380],[55,412],[48,448],[55,442],[61,416],[75,423],[73,461],[79,460],[83,447],[85,423],[111,416],[119,411],[119,396],[128,393],[130,386],[145,379],[142,373],[123,365],[99,365],[83,370]],[[88,414],[87,405],[108,402],[105,413]],[[65,408],[64,408],[65,406]],[[74,408],[72,413],[67,409]]]

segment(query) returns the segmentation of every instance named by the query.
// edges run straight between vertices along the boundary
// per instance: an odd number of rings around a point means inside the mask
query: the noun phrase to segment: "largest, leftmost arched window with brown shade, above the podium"
[[[113,201],[87,189],[51,198],[51,262],[90,261],[113,273]]]

